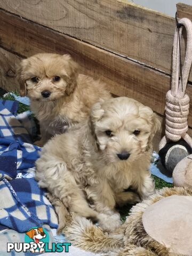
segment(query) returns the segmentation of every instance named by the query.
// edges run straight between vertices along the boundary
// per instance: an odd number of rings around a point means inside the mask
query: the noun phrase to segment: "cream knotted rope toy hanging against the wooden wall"
[[[173,42],[172,55],[172,79],[171,90],[166,93],[165,105],[165,136],[159,143],[159,150],[162,149],[167,141],[178,141],[183,138],[192,148],[192,139],[187,134],[189,96],[186,94],[187,81],[192,61],[192,22],[183,18],[179,21],[183,26],[176,27]],[[187,32],[187,46],[185,61],[183,63],[181,79],[179,80],[180,70],[180,37],[182,29],[185,27]]]

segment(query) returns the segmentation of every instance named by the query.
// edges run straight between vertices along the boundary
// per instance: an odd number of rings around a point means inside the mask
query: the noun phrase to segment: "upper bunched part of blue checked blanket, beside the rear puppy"
[[[27,130],[10,112],[13,106],[14,101],[9,101],[9,109],[0,101],[0,173],[16,178],[18,171],[34,167],[39,147],[31,144]]]

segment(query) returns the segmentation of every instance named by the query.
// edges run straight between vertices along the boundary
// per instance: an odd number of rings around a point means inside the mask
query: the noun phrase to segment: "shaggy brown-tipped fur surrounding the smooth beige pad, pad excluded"
[[[104,233],[89,220],[74,217],[63,230],[67,239],[83,250],[105,252],[110,256],[184,256],[169,252],[164,245],[151,238],[142,225],[147,207],[172,195],[192,196],[192,189],[163,188],[149,199],[132,207],[126,222],[115,231]]]

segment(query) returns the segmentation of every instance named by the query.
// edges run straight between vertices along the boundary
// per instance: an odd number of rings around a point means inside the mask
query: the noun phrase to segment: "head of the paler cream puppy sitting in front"
[[[107,162],[138,159],[151,147],[151,140],[160,126],[149,107],[126,97],[96,103],[91,122]]]

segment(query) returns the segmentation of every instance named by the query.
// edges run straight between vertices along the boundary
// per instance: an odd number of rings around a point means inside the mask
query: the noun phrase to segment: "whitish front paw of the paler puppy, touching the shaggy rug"
[[[100,213],[98,215],[98,219],[99,226],[103,229],[103,231],[113,231],[122,224],[119,213],[114,213],[111,216],[105,213]]]

